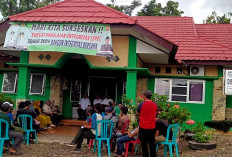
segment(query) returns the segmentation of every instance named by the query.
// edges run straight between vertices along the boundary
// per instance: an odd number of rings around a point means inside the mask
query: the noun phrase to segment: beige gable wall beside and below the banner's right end
[[[127,67],[128,66],[128,36],[112,36],[114,56],[118,56],[118,62],[108,62],[105,57],[85,55],[86,59],[93,65],[99,67]]]

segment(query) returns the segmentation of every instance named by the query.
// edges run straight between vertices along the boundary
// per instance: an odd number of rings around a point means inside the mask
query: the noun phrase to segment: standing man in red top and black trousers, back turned
[[[151,100],[152,92],[146,90],[143,93],[144,101],[139,104],[137,112],[139,114],[139,139],[141,141],[143,157],[155,157],[155,127],[157,104]],[[149,146],[149,150],[148,150]],[[150,151],[150,153],[148,153]]]

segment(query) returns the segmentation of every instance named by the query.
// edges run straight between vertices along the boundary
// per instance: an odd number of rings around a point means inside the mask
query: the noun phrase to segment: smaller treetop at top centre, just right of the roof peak
[[[124,14],[131,16],[132,12],[139,6],[142,5],[140,0],[133,0],[130,5],[115,5],[116,0],[111,0],[112,4],[106,4],[115,10],[118,10]]]

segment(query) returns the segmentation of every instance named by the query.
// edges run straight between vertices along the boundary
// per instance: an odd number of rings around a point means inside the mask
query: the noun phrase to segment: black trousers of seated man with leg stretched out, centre
[[[95,139],[95,135],[90,129],[86,128],[80,128],[78,133],[76,134],[75,138],[73,139],[72,142],[77,144],[77,148],[81,148],[83,139]]]

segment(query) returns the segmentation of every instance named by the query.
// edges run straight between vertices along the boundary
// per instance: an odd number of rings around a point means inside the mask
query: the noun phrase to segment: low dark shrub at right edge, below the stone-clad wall
[[[216,130],[228,132],[232,127],[232,122],[228,120],[221,120],[221,121],[207,121],[205,122],[205,126],[214,128]]]

